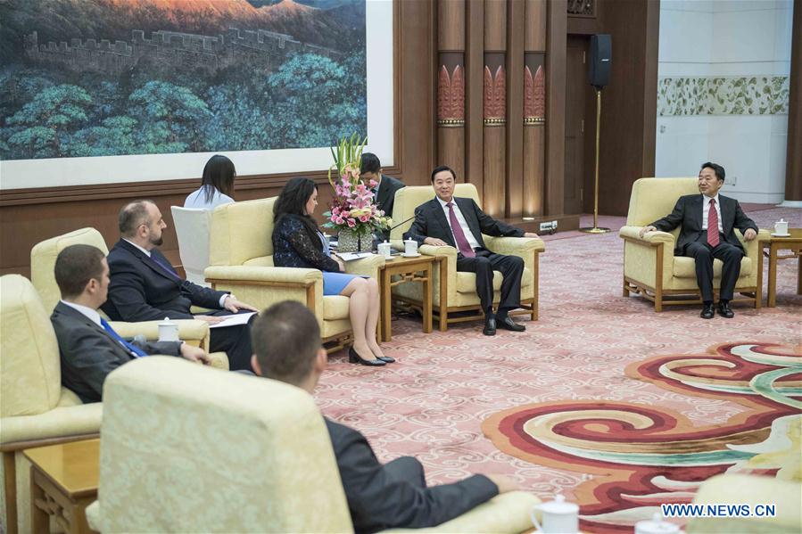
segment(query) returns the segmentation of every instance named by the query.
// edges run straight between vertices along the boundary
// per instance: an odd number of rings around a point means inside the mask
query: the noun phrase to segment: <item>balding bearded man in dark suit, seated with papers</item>
[[[120,209],[121,239],[109,252],[112,283],[103,311],[115,321],[201,319],[210,325],[225,316],[256,308],[236,300],[228,292],[217,292],[178,276],[157,246],[167,228],[153,201],[133,201]],[[191,306],[216,311],[193,315]],[[211,352],[223,351],[232,371],[249,370],[250,325],[211,330]]]

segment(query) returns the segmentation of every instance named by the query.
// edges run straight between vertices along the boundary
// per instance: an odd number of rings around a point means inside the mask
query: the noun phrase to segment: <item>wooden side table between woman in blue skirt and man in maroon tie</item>
[[[423,331],[432,332],[432,291],[434,290],[434,256],[420,255],[415,258],[393,256],[379,270],[379,292],[381,292],[381,341],[393,339],[393,327],[390,316],[393,308],[393,286],[404,282],[423,284]],[[393,281],[393,275],[401,278]]]

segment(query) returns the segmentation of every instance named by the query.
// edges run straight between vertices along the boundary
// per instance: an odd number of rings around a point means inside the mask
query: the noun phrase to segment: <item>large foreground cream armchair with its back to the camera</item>
[[[95,530],[352,531],[326,424],[305,391],[149,357],[110,374],[103,400]],[[520,532],[537,502],[504,494],[435,530]]]

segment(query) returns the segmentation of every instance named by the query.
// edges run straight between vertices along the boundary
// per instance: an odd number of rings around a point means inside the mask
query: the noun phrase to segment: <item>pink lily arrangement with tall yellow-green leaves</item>
[[[370,180],[368,185],[360,181],[360,162],[362,150],[368,143],[368,137],[361,139],[357,134],[343,137],[337,145],[337,151],[331,149],[334,164],[328,169],[328,182],[335,190],[331,210],[324,213],[328,218],[323,225],[338,231],[351,230],[356,234],[370,234],[374,230],[389,228],[393,221],[384,217],[384,211],[376,209],[374,194],[376,181]],[[335,177],[332,176],[336,170]]]

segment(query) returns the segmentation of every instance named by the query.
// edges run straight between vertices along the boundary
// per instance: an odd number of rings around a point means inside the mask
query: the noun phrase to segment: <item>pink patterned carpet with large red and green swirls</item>
[[[768,228],[781,217],[800,221],[802,210],[755,207],[749,215]],[[800,410],[781,401],[798,403],[802,380],[796,261],[780,263],[777,308],[736,306],[735,318],[710,321],[695,306],[656,314],[646,300],[621,296],[623,224],[602,217],[613,233],[545,237],[541,318],[525,322],[525,333],[489,338],[477,323],[424,334],[418,320],[394,319],[384,351],[399,362],[375,370],[335,355],[319,406],[365,433],[381,460],[418,456],[431,483],[494,472],[542,498],[564,493],[582,506],[588,532],[626,530],[652,505],[690,499],[715,472],[749,468],[749,446],[768,440],[772,422],[798,435],[798,426],[777,423],[790,414],[798,421]],[[787,358],[790,367],[744,359],[752,352]],[[700,357],[729,363],[682,363]],[[758,375],[765,395],[750,395],[744,384]],[[590,420],[588,410],[597,411]],[[552,440],[533,440],[530,429]],[[560,447],[557,434],[566,440]],[[740,453],[727,452],[728,443]]]

